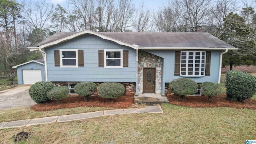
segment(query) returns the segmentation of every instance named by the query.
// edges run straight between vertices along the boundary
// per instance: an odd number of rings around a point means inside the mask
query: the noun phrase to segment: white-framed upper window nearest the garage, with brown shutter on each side
[[[60,67],[78,68],[78,50],[60,49]]]

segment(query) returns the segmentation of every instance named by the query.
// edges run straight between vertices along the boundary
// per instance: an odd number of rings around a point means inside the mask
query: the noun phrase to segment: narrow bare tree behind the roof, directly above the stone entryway
[[[144,10],[144,2],[139,6],[136,11],[136,18],[134,20],[134,29],[137,32],[146,32],[150,29],[150,10]]]

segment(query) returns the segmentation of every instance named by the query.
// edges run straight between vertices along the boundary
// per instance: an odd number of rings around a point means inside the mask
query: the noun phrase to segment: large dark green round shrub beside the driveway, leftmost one
[[[28,89],[28,93],[36,103],[49,102],[50,99],[47,97],[47,93],[54,87],[55,85],[51,82],[36,82]]]

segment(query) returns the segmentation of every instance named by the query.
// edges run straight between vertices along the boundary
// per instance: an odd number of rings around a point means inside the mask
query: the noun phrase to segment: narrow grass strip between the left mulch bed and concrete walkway
[[[66,114],[79,114],[84,112],[95,112],[98,110],[111,110],[114,108],[104,107],[78,107],[78,108],[62,108],[58,110],[49,110],[38,112],[31,110],[29,107],[17,107],[0,110],[0,122],[10,122],[14,120],[26,120],[32,118],[42,118],[49,116],[60,116]]]

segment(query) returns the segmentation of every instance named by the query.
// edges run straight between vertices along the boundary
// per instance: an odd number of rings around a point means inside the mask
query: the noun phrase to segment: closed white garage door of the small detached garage
[[[34,84],[42,81],[41,70],[23,70],[23,84]]]

